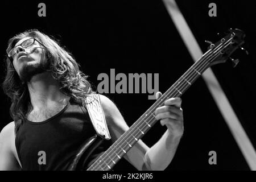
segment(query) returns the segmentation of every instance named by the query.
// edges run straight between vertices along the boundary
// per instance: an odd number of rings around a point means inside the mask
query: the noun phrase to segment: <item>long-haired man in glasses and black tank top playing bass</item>
[[[81,143],[95,134],[81,106],[94,93],[86,76],[70,53],[38,30],[11,38],[7,53],[3,89],[14,122],[0,133],[0,170],[66,170]],[[100,100],[113,143],[129,127],[109,98]],[[171,163],[183,135],[181,99],[166,100],[155,118],[167,126],[162,138],[151,148],[138,140],[124,156],[138,170],[163,170]]]

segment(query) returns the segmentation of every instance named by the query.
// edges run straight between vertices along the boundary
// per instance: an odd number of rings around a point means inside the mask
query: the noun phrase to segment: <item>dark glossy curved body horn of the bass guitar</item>
[[[104,139],[99,137],[98,135],[94,135],[93,137],[85,140],[84,143],[81,144],[79,150],[77,150],[77,155],[69,164],[68,171],[84,171],[85,163],[87,162],[89,156],[92,152],[100,146]]]

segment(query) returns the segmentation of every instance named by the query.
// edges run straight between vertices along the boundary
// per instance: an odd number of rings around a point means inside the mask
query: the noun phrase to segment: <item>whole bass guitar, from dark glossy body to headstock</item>
[[[245,34],[243,31],[235,29],[217,43],[210,43],[208,51],[200,57],[142,116],[127,130],[112,146],[108,148],[96,161],[86,170],[88,171],[108,171],[130,150],[134,144],[151,129],[156,123],[154,111],[157,107],[163,106],[164,101],[171,97],[180,97],[202,73],[214,64],[225,63],[230,55],[241,48],[244,43]],[[243,48],[242,48],[243,49]],[[234,66],[238,60],[231,59]],[[88,139],[79,149],[75,159],[69,166],[69,170],[85,170],[86,159],[93,150],[100,145],[102,139],[97,135]]]

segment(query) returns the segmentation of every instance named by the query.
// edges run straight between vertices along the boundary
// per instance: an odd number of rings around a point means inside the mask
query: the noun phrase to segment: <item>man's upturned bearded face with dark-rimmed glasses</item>
[[[19,40],[14,47],[30,38],[31,37],[27,37]],[[44,72],[45,69],[43,68],[47,68],[44,47],[37,41],[26,48],[18,46],[16,54],[13,56],[13,65],[20,77],[20,80],[24,82],[30,81],[32,76]]]

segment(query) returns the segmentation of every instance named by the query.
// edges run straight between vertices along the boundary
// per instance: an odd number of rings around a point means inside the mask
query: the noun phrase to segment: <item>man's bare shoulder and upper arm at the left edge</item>
[[[14,154],[14,136],[14,122],[11,122],[0,133],[0,171],[20,170]]]

